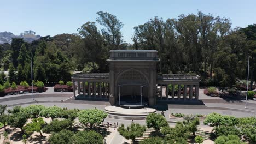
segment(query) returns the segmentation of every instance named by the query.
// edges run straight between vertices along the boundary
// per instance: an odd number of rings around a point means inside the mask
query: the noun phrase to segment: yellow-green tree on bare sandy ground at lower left
[[[39,132],[40,136],[43,137],[43,134],[41,132],[42,128],[44,126],[44,119],[42,117],[34,118],[31,123],[27,123],[23,129],[25,130],[25,133],[28,135],[31,135],[34,133],[34,131]]]

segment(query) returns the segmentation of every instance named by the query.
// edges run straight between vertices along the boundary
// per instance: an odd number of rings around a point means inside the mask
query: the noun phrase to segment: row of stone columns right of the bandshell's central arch
[[[184,85],[183,89],[181,84],[178,85],[177,91],[175,91],[175,85],[172,84],[171,92],[169,92],[169,84],[160,85],[160,94],[158,95],[160,100],[198,100],[199,99],[199,85]],[[166,86],[165,95],[163,97],[164,86]],[[158,90],[159,91],[159,90]]]

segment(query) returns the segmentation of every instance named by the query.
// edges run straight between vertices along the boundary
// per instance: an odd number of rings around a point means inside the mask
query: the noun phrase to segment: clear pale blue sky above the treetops
[[[177,18],[180,14],[205,14],[227,17],[234,27],[256,23],[256,1],[251,0],[179,0],[179,1],[66,1],[66,0],[1,0],[0,32],[20,34],[25,30],[40,35],[76,33],[83,23],[95,21],[97,11],[107,11],[124,23],[124,40],[132,43],[133,27],[154,16]]]

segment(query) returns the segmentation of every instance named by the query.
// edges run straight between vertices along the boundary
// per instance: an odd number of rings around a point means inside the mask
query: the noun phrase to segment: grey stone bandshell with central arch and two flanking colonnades
[[[77,83],[79,98],[104,99],[115,105],[121,95],[138,95],[143,86],[143,96],[150,106],[156,101],[194,101],[199,98],[198,75],[157,74],[159,62],[156,50],[111,50],[109,73],[77,73],[72,76]]]

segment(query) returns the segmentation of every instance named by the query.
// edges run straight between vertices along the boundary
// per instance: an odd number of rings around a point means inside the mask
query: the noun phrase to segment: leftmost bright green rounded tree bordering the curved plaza
[[[26,112],[31,115],[31,118],[38,118],[40,111],[45,109],[43,105],[29,105],[21,109],[21,112]]]

